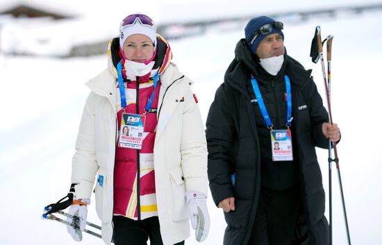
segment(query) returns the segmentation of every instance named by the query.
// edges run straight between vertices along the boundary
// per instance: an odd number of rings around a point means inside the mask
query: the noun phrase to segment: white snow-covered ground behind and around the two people
[[[382,244],[382,157],[378,127],[382,119],[382,11],[338,19],[308,19],[285,24],[285,47],[313,76],[324,97],[321,67],[310,62],[314,28],[334,35],[332,61],[333,120],[339,124],[342,185],[352,244]],[[117,23],[118,25],[118,23]],[[244,25],[217,25],[197,37],[170,42],[174,62],[195,81],[204,121],[215,90],[234,57]],[[232,28],[233,27],[233,28]],[[44,205],[69,191],[71,160],[88,88],[83,85],[107,65],[106,56],[48,59],[0,54],[0,243],[77,244],[58,222],[42,221]],[[328,183],[327,151],[317,149]],[[88,220],[99,223],[94,200]],[[333,167],[333,244],[347,244],[340,192]],[[327,207],[327,206],[326,206]],[[222,244],[222,210],[208,198],[210,235],[203,244]],[[328,211],[328,208],[326,208]],[[81,244],[103,244],[84,235]],[[198,244],[193,237],[186,244]]]

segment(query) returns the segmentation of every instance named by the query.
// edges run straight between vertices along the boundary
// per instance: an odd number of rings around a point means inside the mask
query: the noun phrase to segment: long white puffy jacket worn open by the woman
[[[158,127],[153,149],[158,218],[163,244],[190,236],[185,192],[207,194],[207,147],[204,126],[190,85],[192,81],[170,63],[160,75]],[[106,69],[90,80],[73,157],[72,183],[77,198],[95,199],[102,238],[113,236],[113,175],[117,140],[116,80]],[[97,178],[95,178],[97,176]]]

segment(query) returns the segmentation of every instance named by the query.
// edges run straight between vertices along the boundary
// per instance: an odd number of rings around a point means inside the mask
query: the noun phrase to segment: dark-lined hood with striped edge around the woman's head
[[[156,34],[156,39],[157,50],[154,58],[155,65],[153,69],[157,69],[159,67],[159,74],[162,74],[172,60],[172,50],[164,37]],[[115,76],[115,78],[118,77],[117,64],[121,58],[122,56],[119,54],[119,37],[115,37],[110,40],[108,44],[108,69],[113,76]]]

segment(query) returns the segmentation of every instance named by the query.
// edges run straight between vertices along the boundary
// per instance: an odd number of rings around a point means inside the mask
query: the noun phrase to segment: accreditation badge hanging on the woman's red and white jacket
[[[144,115],[122,113],[119,147],[142,149],[145,118]]]

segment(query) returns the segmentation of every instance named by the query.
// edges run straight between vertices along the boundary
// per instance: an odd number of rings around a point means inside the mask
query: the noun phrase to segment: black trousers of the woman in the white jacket
[[[158,217],[135,221],[114,216],[113,224],[115,245],[147,245],[147,239],[150,239],[150,245],[163,245]],[[184,245],[184,241],[174,245]]]

